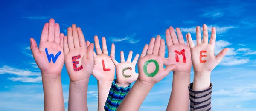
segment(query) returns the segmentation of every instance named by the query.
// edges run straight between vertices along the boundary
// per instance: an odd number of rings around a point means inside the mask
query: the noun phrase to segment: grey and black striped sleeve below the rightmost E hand
[[[204,91],[193,91],[193,83],[189,84],[190,111],[212,111],[212,83]]]

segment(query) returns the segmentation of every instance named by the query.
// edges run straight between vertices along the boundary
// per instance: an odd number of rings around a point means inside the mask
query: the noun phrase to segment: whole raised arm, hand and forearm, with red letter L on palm
[[[98,36],[94,36],[94,69],[93,76],[98,80],[98,111],[104,111],[104,105],[108,97],[111,83],[115,78],[115,65],[110,56],[108,56],[107,43],[105,37],[102,37],[102,50],[99,46]],[[87,41],[87,46],[90,44]],[[115,45],[111,46],[111,56],[115,57]]]

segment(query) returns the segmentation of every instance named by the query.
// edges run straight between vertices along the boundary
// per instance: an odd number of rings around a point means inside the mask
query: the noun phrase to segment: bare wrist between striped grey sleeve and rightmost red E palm
[[[194,91],[203,91],[210,87],[211,72],[207,73],[197,73],[194,74],[193,90]]]

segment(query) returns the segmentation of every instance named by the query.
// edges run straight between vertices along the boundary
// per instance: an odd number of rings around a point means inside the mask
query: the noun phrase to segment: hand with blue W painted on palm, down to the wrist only
[[[59,24],[50,19],[49,23],[44,24],[39,49],[35,40],[30,38],[30,48],[42,74],[60,76],[64,65],[63,37]]]

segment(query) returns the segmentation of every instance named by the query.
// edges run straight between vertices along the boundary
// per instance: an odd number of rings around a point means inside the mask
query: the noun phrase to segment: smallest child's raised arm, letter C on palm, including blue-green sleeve
[[[139,54],[136,54],[132,62],[132,51],[130,51],[126,61],[123,51],[121,51],[120,56],[121,63],[118,63],[115,58],[111,56],[111,60],[116,65],[117,78],[112,82],[111,89],[104,106],[105,111],[116,111],[126,94],[130,91],[131,83],[138,78],[138,74],[135,72],[135,65],[139,58]]]

